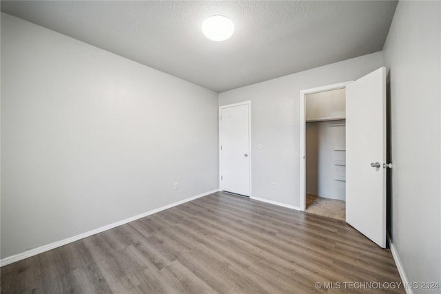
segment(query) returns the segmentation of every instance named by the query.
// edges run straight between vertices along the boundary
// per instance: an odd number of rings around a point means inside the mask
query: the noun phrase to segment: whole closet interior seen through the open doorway
[[[345,220],[345,88],[305,96],[306,212]]]

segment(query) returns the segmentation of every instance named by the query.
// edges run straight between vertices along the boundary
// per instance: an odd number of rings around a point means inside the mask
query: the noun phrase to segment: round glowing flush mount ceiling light
[[[234,32],[234,23],[228,17],[214,15],[202,23],[202,32],[213,41],[225,41]]]

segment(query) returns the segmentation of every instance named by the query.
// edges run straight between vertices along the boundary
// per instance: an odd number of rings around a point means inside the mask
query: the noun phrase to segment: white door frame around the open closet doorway
[[[346,85],[353,83],[353,81],[337,83],[332,85],[325,85],[322,87],[315,87],[311,89],[301,90],[300,91],[300,211],[304,211],[306,209],[306,146],[305,146],[305,127],[306,127],[306,103],[305,96],[307,94],[314,94],[319,92],[338,90],[346,88]]]

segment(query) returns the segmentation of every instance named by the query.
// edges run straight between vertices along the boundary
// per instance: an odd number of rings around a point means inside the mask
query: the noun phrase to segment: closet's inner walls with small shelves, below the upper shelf
[[[307,193],[346,200],[345,131],[345,120],[306,123]]]

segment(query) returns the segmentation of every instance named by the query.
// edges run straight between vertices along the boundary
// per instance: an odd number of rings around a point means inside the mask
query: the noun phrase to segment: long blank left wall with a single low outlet
[[[2,13],[1,258],[217,189],[217,113],[215,92]]]

